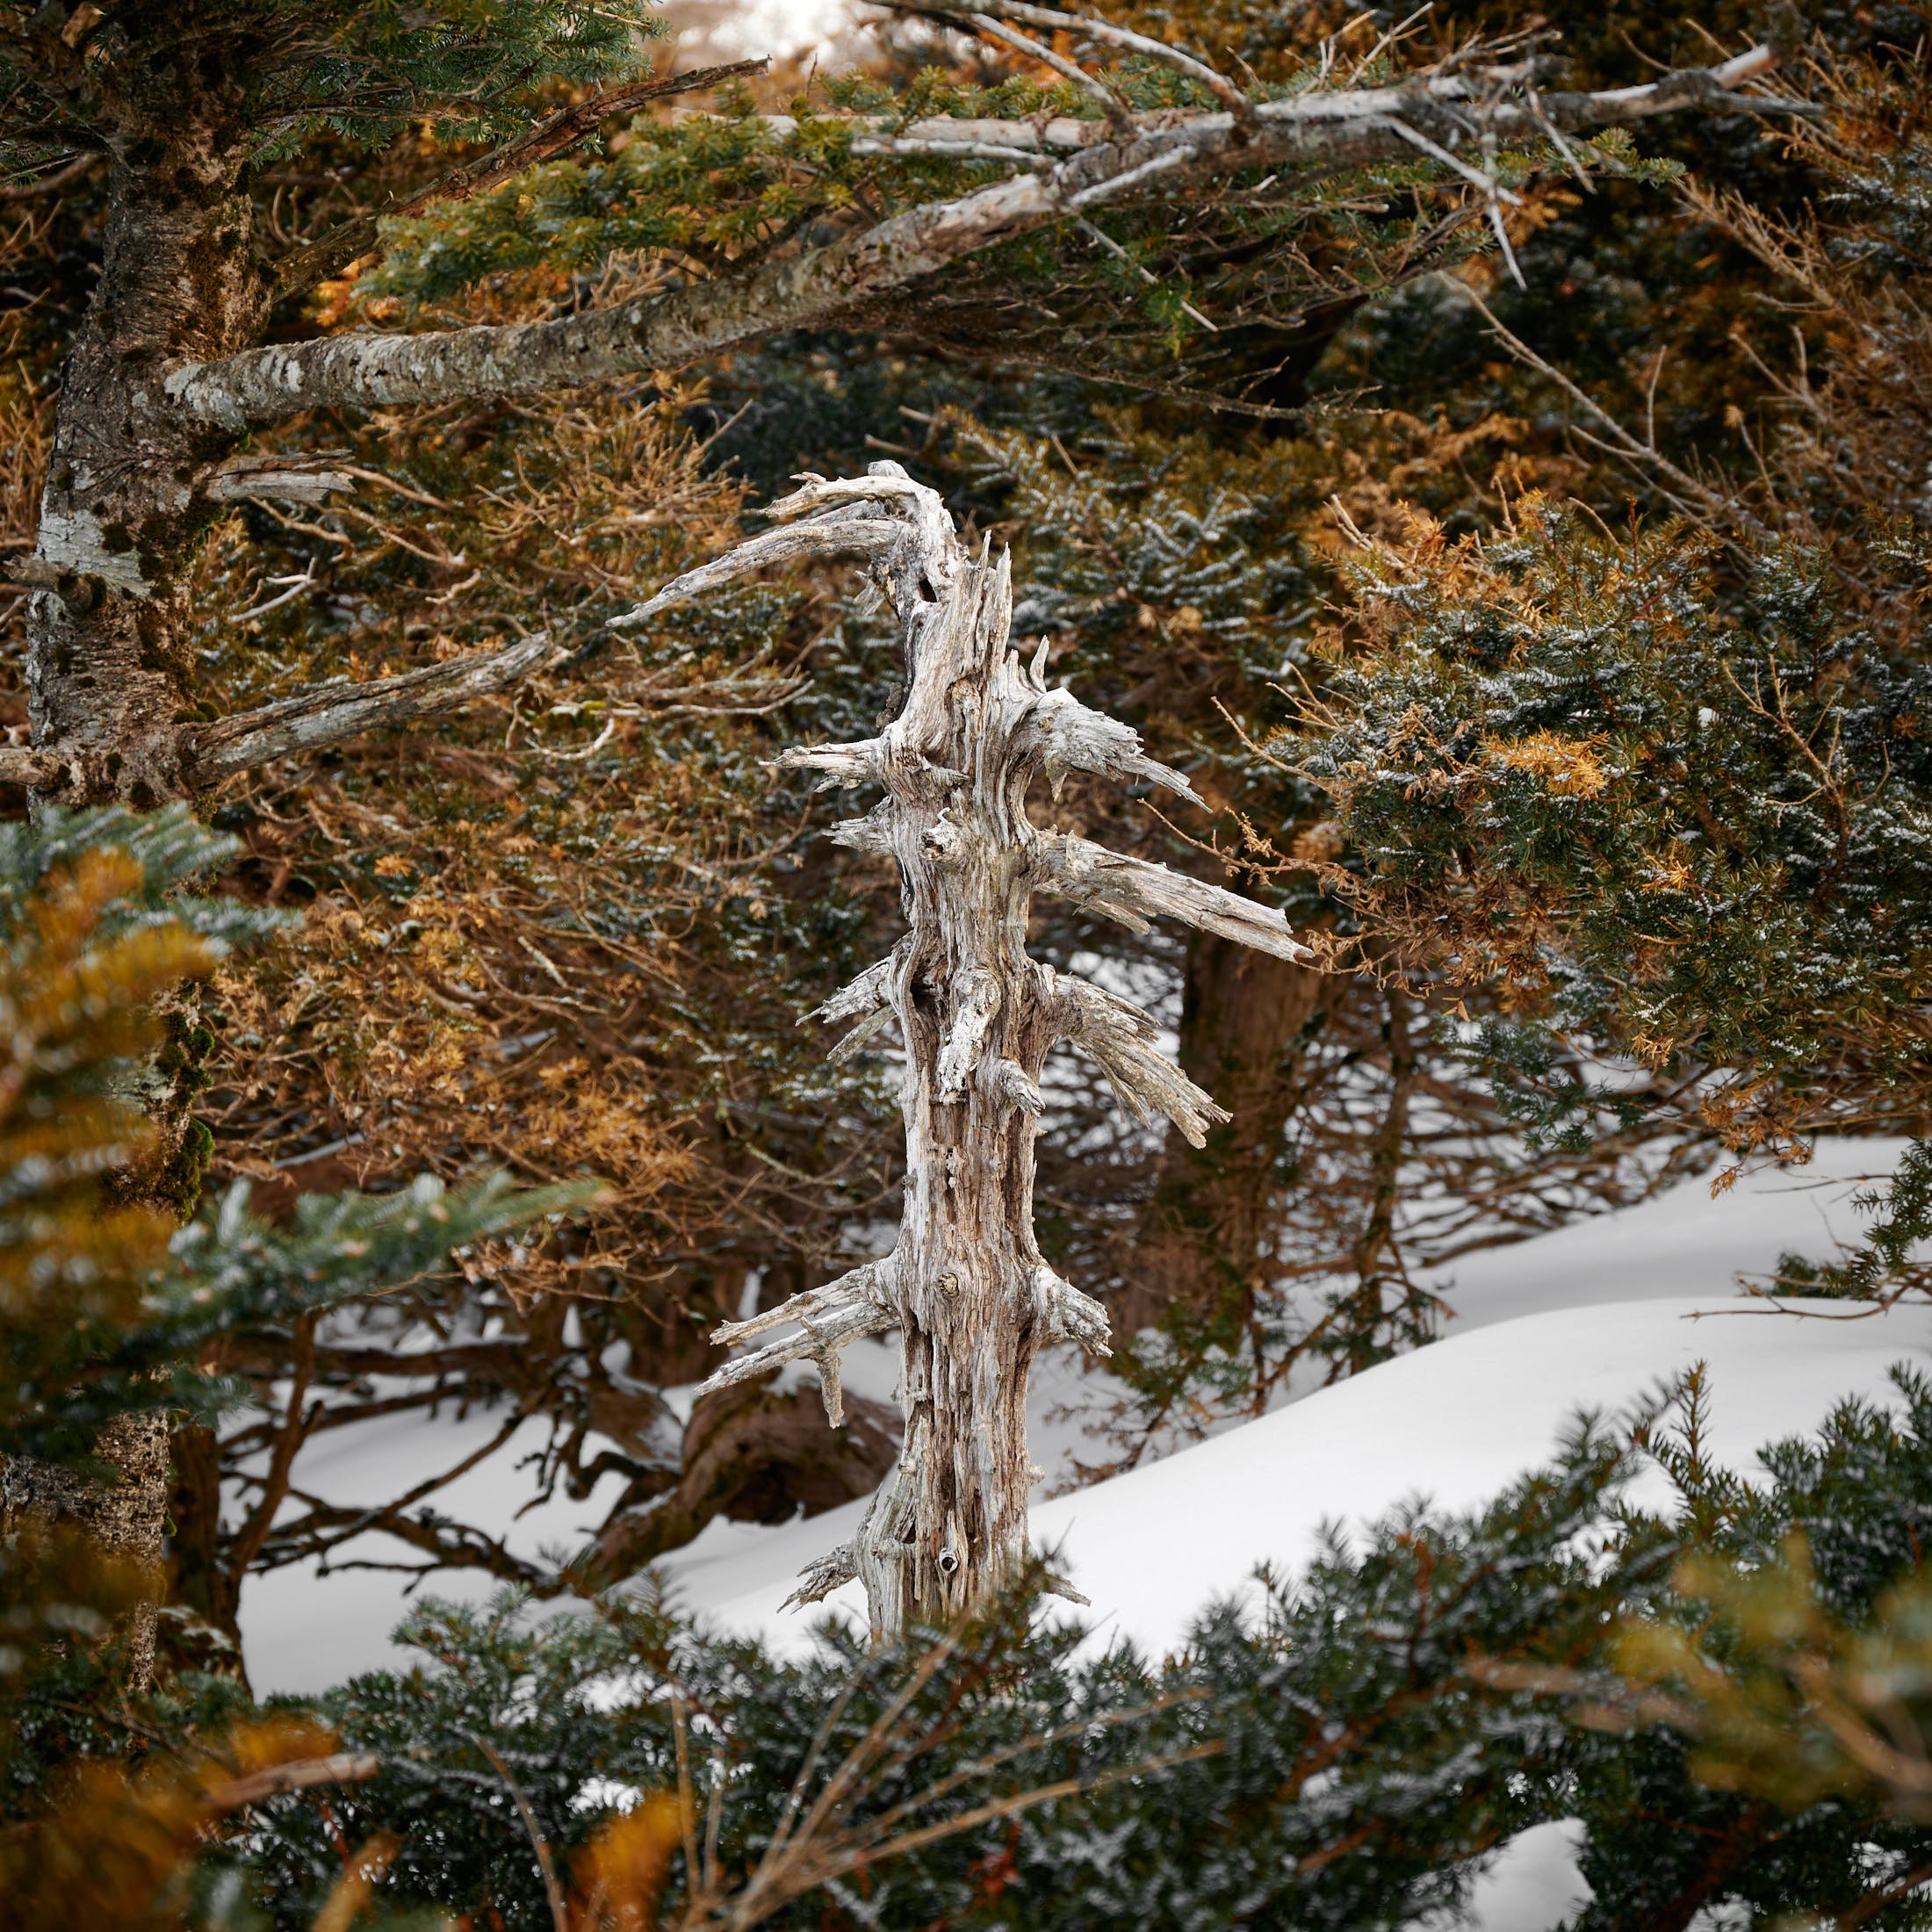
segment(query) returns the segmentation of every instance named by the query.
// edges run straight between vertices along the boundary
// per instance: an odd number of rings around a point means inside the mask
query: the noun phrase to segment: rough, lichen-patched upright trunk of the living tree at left
[[[243,147],[207,106],[205,75],[156,75],[147,124],[110,145],[100,280],[62,379],[39,543],[17,572],[33,585],[33,736],[60,761],[62,804],[145,810],[189,788],[187,576],[220,508],[209,479],[234,439],[155,404],[170,363],[232,354],[261,327]],[[185,1105],[201,1041],[191,1010],[164,1020],[156,1146],[118,1177],[116,1194],[178,1215],[193,1208],[207,1157],[207,1134]],[[116,1472],[108,1482],[17,1466],[14,1507],[79,1522],[106,1553],[149,1567],[158,1588],[166,1418],[118,1422],[97,1453]],[[151,1600],[126,1633],[133,1685],[153,1673],[155,1633]]]

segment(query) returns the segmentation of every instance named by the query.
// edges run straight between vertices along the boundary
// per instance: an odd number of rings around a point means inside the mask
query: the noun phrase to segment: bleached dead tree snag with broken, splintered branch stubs
[[[1009,639],[1007,556],[968,556],[935,491],[898,464],[873,464],[864,479],[808,477],[773,516],[786,524],[678,578],[632,620],[781,556],[854,551],[898,614],[898,717],[877,738],[786,752],[779,763],[823,771],[827,786],[885,790],[833,837],[898,862],[910,931],[815,1018],[856,1020],[846,1047],[898,1026],[906,1208],[889,1256],[721,1327],[723,1343],[792,1333],[719,1370],[707,1389],[811,1358],[837,1424],[838,1350],[898,1327],[898,1468],[856,1542],[813,1565],[798,1592],[813,1602],[862,1577],[873,1631],[887,1633],[981,1604],[1024,1567],[1034,1356],[1047,1341],[1105,1352],[1105,1312],[1061,1281],[1034,1240],[1047,1053],[1061,1041],[1088,1053],[1124,1107],[1140,1119],[1167,1115],[1196,1146],[1227,1119],[1157,1051],[1146,1012],[1026,956],[1034,893],[1072,896],[1136,927],[1155,914],[1179,918],[1279,958],[1304,949],[1279,912],[1034,829],[1026,802],[1041,777],[1055,788],[1084,771],[1194,792],[1128,726],[1047,690],[1043,651],[1032,667],[1020,663]]]

